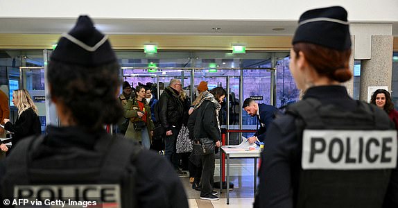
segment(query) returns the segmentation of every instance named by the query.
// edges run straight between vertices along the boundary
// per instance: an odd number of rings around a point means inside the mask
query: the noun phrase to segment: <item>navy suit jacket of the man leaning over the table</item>
[[[259,141],[263,142],[266,139],[266,130],[270,126],[277,111],[278,109],[273,105],[259,104],[260,121],[258,121],[259,118],[257,117],[259,129],[254,134],[254,136],[259,138]]]

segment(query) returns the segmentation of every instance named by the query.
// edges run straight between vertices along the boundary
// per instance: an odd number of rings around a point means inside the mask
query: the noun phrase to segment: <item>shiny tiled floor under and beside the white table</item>
[[[212,208],[212,207],[252,207],[254,202],[254,159],[232,159],[230,165],[230,180],[234,183],[234,189],[230,191],[230,205],[227,205],[225,189],[218,193],[220,200],[201,200],[200,192],[192,189],[189,177],[180,177],[184,184],[189,200],[189,207]],[[216,159],[214,181],[220,178],[219,159]],[[258,180],[257,180],[258,182]],[[215,189],[219,192],[218,189]]]

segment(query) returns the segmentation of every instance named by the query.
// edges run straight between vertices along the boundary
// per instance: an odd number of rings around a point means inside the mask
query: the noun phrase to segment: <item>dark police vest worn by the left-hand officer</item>
[[[43,135],[30,137],[12,150],[1,181],[3,199],[19,206],[137,207],[137,171],[132,162],[139,155],[139,146],[123,137],[105,135],[94,150],[68,147],[55,152],[40,145],[43,140]],[[32,160],[35,151],[46,157]]]

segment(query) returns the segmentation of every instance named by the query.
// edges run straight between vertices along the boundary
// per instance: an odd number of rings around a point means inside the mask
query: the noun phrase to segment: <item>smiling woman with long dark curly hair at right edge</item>
[[[386,89],[377,89],[370,99],[370,103],[377,105],[384,110],[391,121],[394,122],[395,128],[398,130],[398,111],[394,109],[394,103],[391,101],[390,93]]]

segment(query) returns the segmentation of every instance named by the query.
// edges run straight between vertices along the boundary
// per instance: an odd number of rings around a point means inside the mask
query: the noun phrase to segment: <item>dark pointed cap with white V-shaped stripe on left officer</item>
[[[85,67],[98,67],[116,61],[107,35],[98,31],[88,16],[80,16],[76,25],[60,38],[51,60]]]

